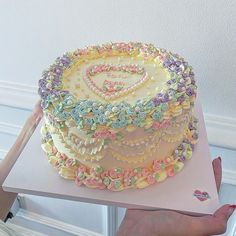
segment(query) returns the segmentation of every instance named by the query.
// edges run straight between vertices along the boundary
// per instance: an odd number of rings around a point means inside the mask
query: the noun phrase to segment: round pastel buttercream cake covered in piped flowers
[[[198,139],[192,67],[152,44],[65,53],[39,80],[42,148],[90,188],[145,188],[181,171]]]

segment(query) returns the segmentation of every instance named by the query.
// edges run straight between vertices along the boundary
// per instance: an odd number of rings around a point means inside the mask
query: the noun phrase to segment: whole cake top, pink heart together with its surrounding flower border
[[[107,43],[57,58],[43,72],[39,94],[56,121],[116,129],[181,114],[193,106],[196,85],[191,66],[177,54],[152,44]]]

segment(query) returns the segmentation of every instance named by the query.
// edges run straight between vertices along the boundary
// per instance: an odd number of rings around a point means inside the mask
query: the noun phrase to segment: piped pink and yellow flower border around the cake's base
[[[78,160],[60,153],[54,146],[49,132],[44,134],[42,148],[48,161],[59,174],[66,179],[75,180],[77,185],[90,188],[121,191],[127,188],[145,188],[154,183],[164,181],[168,176],[174,176],[182,170],[184,161],[192,157],[194,144],[198,140],[198,121],[195,118],[189,122],[183,142],[174,150],[172,155],[163,160],[154,160],[149,167],[121,168],[115,167],[103,170],[102,166],[94,165],[89,168]]]

